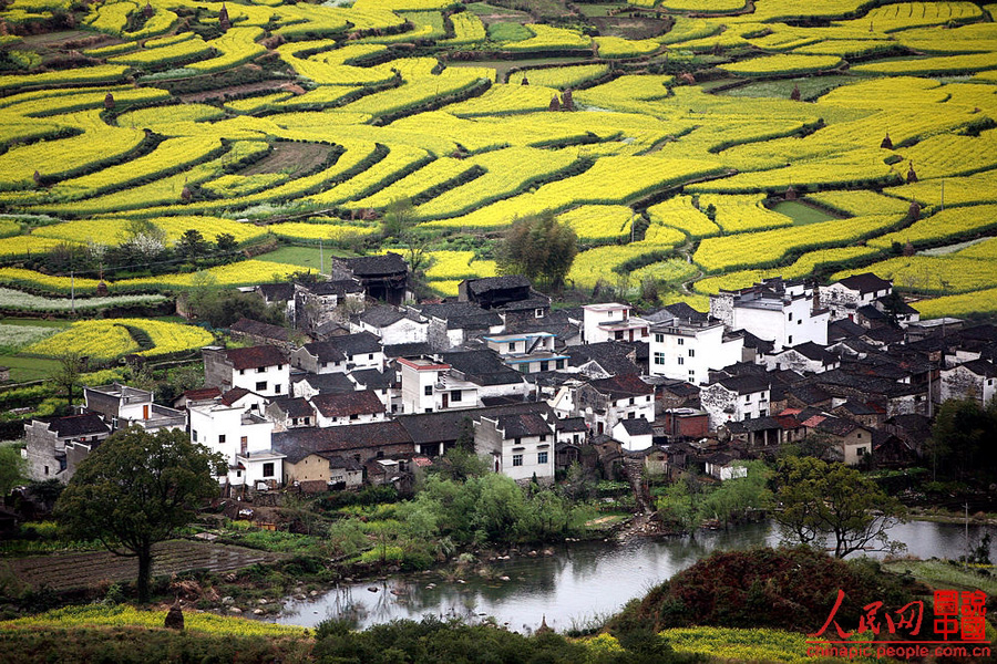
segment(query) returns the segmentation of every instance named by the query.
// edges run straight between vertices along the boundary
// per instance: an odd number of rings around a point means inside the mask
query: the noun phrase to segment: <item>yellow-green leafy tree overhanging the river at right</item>
[[[783,542],[826,546],[834,556],[855,551],[892,551],[890,528],[905,517],[900,500],[844,464],[789,457],[777,467],[775,512]]]

